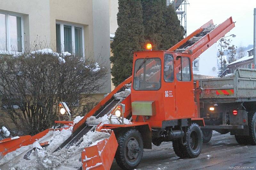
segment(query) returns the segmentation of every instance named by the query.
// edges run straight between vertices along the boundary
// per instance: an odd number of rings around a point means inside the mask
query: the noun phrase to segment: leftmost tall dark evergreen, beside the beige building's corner
[[[113,56],[110,57],[113,64],[112,82],[115,86],[132,75],[132,51],[141,51],[144,45],[141,1],[119,0],[118,5],[118,28],[111,43]]]

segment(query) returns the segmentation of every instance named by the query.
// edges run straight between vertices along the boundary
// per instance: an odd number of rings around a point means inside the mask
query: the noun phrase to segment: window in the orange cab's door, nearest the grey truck
[[[176,74],[178,81],[191,81],[190,59],[188,57],[178,56],[177,67],[179,72]]]

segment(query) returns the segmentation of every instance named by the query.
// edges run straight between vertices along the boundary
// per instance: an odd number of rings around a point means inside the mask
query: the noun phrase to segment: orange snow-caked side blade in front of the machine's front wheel
[[[114,131],[111,130],[109,133],[111,135],[108,139],[84,148],[81,153],[83,170],[109,170],[111,168],[118,144]]]

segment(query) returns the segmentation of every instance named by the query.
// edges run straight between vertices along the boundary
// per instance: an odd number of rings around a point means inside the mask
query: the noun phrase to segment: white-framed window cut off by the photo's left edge
[[[0,11],[0,52],[22,52],[22,16]]]

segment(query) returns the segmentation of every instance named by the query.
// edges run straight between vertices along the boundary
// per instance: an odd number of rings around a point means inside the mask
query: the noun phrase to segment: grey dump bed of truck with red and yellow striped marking
[[[228,77],[200,79],[199,83],[204,103],[256,101],[256,69],[238,68]]]

